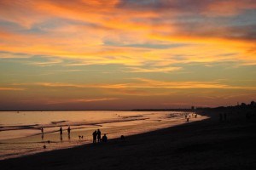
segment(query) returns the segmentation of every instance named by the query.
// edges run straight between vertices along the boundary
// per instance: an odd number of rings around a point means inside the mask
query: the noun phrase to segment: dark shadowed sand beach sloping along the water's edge
[[[5,169],[256,169],[256,121],[244,114],[0,161]]]

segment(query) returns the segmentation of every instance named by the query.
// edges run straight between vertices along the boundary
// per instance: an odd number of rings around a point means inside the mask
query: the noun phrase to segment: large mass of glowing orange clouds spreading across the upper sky
[[[233,2],[233,1],[232,1]],[[72,65],[145,65],[154,62],[155,65],[172,65],[175,63],[189,62],[216,62],[241,60],[241,65],[252,65],[255,63],[255,43],[242,38],[224,37],[229,35],[229,29],[216,29],[209,25],[207,34],[202,36],[200,27],[192,30],[189,22],[180,24],[175,17],[177,15],[166,14],[166,10],[149,10],[154,3],[146,4],[143,11],[139,10],[140,3],[132,6],[123,5],[122,1],[72,1],[58,3],[56,1],[26,1],[25,3],[2,1],[4,20],[10,20],[27,29],[38,26],[44,33],[24,34],[18,31],[7,31],[0,29],[2,43],[0,50],[25,53],[43,54],[68,59],[78,59]],[[219,3],[226,10],[229,8],[255,8],[252,3],[227,1],[215,1],[212,3],[198,3],[202,12],[208,9],[214,11]],[[21,5],[21,6],[20,6]],[[137,5],[139,8],[131,8]],[[188,4],[189,5],[189,4]],[[104,6],[104,8],[102,8]],[[160,8],[167,9],[177,7],[172,13],[183,14],[183,9],[175,1],[159,1]],[[197,8],[191,5],[192,8]],[[15,9],[15,10],[9,10]],[[29,12],[24,12],[24,11]],[[222,10],[222,9],[220,9]],[[1,10],[0,10],[1,11]],[[22,13],[24,12],[24,13]],[[163,15],[163,14],[166,14]],[[2,19],[3,19],[2,18]],[[40,26],[49,20],[65,20],[63,26]],[[53,24],[53,23],[49,23]],[[183,27],[192,30],[191,36]],[[252,29],[252,28],[250,28]],[[215,30],[217,30],[215,32]],[[214,31],[214,34],[211,34]],[[247,29],[244,29],[247,31]],[[205,34],[206,32],[204,32]],[[243,35],[244,32],[242,31]],[[166,36],[169,35],[169,36]],[[214,35],[218,35],[214,37]],[[114,42],[108,44],[106,42]],[[193,43],[193,47],[178,48],[131,48],[119,47],[117,44],[173,44]],[[196,46],[196,43],[199,43]],[[207,44],[207,46],[205,45]],[[225,46],[225,47],[224,47]],[[224,48],[223,48],[224,47]],[[223,54],[234,54],[224,56]],[[175,56],[181,56],[177,59]],[[56,62],[59,63],[59,62]],[[38,65],[40,63],[30,63]],[[45,63],[41,63],[44,65]],[[52,64],[55,64],[54,62]],[[155,71],[154,68],[150,68]],[[138,71],[138,70],[137,70]],[[142,72],[143,69],[140,68]],[[144,70],[146,71],[146,70]]]

